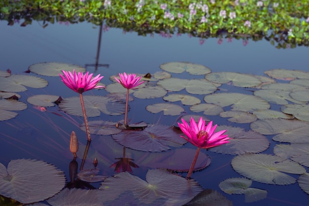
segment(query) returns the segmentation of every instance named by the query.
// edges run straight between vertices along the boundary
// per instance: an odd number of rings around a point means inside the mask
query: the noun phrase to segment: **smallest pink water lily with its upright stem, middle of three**
[[[142,77],[136,76],[136,74],[119,74],[120,79],[115,77],[115,80],[119,82],[124,88],[127,89],[126,102],[125,102],[125,113],[124,113],[124,126],[128,125],[128,102],[129,102],[129,89],[134,89],[134,87],[141,85],[145,81],[140,82]]]

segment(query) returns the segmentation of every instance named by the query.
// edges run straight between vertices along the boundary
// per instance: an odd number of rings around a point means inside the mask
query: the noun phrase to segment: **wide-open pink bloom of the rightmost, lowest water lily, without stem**
[[[202,117],[199,119],[198,124],[195,123],[191,117],[190,125],[182,119],[183,124],[178,123],[180,129],[186,136],[181,136],[188,142],[192,143],[196,147],[208,149],[217,147],[222,144],[229,143],[228,135],[223,135],[227,130],[221,130],[215,132],[217,124],[212,126],[212,121],[205,125],[205,121]]]

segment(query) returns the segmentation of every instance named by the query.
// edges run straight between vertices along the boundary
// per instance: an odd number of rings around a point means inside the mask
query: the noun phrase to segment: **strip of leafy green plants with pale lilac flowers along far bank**
[[[88,21],[139,35],[265,38],[277,48],[309,45],[308,0],[2,0],[0,19],[22,26]]]

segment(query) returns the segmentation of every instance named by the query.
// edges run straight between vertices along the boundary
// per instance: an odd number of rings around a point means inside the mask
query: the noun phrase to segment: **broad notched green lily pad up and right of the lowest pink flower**
[[[232,111],[253,112],[270,108],[270,104],[261,97],[240,93],[210,94],[206,95],[204,100],[221,107],[231,106]]]

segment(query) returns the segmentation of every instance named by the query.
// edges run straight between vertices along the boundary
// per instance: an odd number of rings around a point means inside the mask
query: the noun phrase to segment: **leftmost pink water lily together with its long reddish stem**
[[[62,82],[64,82],[73,91],[79,93],[81,109],[82,109],[82,113],[83,113],[83,117],[84,117],[84,121],[85,121],[87,140],[91,141],[90,130],[89,130],[89,125],[88,125],[88,121],[87,121],[86,109],[85,109],[82,93],[84,91],[88,91],[88,90],[91,90],[91,89],[105,88],[105,86],[97,85],[97,83],[102,80],[103,76],[100,77],[100,74],[99,74],[96,77],[92,78],[93,74],[89,75],[89,72],[86,72],[86,74],[83,75],[82,72],[78,72],[76,74],[75,70],[73,70],[73,73],[72,72],[66,72],[64,70],[62,72],[63,72],[64,76],[59,74],[59,76],[62,79]]]

